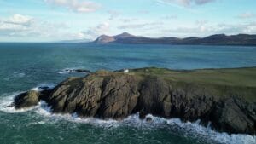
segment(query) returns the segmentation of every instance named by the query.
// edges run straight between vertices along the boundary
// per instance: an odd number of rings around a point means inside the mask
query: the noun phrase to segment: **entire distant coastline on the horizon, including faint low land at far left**
[[[256,34],[213,34],[207,37],[143,37],[123,32],[119,35],[101,35],[95,40],[70,39],[53,42],[0,42],[0,43],[63,43],[63,44],[166,44],[166,45],[212,45],[212,46],[256,46]]]

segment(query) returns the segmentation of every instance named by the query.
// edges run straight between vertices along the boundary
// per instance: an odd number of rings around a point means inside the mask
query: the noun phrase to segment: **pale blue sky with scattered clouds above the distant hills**
[[[0,0],[0,42],[256,34],[256,0]]]

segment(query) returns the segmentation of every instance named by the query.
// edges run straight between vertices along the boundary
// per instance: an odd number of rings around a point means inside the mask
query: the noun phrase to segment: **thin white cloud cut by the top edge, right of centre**
[[[157,0],[159,3],[176,3],[182,6],[190,6],[190,5],[202,5],[206,3],[213,2],[215,0]]]

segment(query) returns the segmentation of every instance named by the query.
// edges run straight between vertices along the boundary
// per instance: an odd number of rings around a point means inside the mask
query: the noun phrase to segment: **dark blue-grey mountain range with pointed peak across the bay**
[[[116,36],[102,35],[94,43],[131,43],[131,44],[206,44],[206,45],[256,45],[256,35],[238,34],[227,36],[216,34],[209,37],[137,37],[124,32]]]

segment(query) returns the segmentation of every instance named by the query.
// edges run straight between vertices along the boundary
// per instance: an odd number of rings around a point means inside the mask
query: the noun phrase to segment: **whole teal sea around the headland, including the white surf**
[[[171,69],[256,66],[256,47],[128,45],[85,43],[0,43],[0,144],[255,144],[255,135],[218,133],[198,123],[151,115],[148,123],[132,115],[122,121],[52,114],[37,107],[15,110],[15,95],[39,86],[53,87],[77,68],[95,72],[145,66]]]

